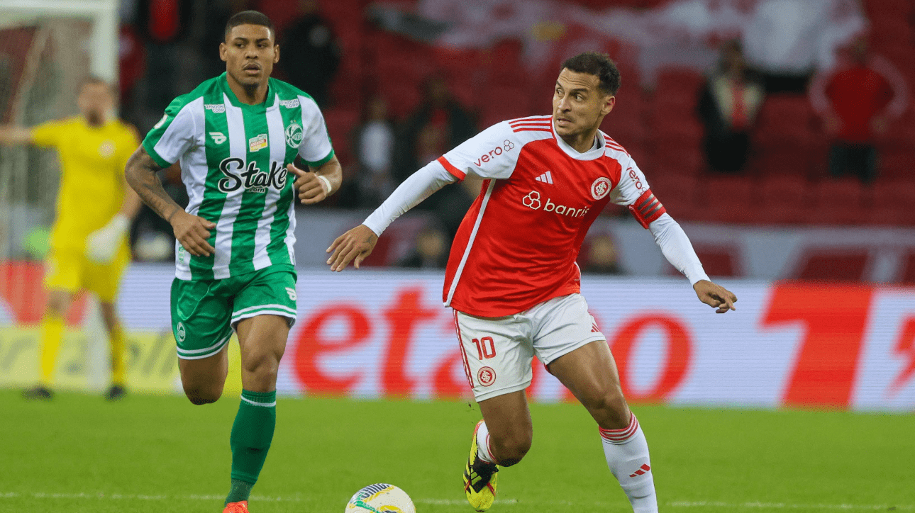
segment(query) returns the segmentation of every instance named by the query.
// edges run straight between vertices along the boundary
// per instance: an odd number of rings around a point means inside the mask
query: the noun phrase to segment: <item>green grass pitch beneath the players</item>
[[[220,512],[238,398],[116,403],[0,390],[0,511]],[[913,511],[915,416],[635,405],[662,511]],[[595,424],[532,406],[533,448],[500,474],[493,513],[631,511]],[[461,488],[479,410],[460,401],[280,399],[253,513],[341,513],[386,482],[420,513],[470,513]]]

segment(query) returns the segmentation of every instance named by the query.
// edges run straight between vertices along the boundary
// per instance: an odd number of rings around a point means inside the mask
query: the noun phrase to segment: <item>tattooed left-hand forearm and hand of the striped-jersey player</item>
[[[195,256],[210,256],[216,252],[216,249],[210,246],[210,242],[207,240],[210,239],[210,230],[215,229],[216,224],[188,214],[168,196],[156,175],[161,169],[163,167],[146,153],[143,146],[140,146],[134,155],[130,155],[130,160],[127,161],[127,167],[124,169],[124,176],[130,187],[136,191],[137,196],[172,225],[175,238],[185,250]]]

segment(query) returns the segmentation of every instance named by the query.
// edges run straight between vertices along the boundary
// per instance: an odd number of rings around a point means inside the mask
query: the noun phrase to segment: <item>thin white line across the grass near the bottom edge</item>
[[[0,492],[0,499],[3,498],[85,498],[98,500],[222,500],[225,496],[221,495],[188,495],[188,496],[164,496],[164,495],[143,495],[143,494],[103,494],[103,493],[79,493],[63,494],[48,492]],[[295,497],[263,497],[252,496],[253,501],[262,502],[305,502],[306,499],[301,495]],[[432,504],[436,506],[461,506],[467,503],[463,499],[451,498],[417,498],[414,499],[418,504]],[[496,502],[501,504],[519,504],[522,501],[517,498],[499,499]],[[533,501],[531,502],[533,506]],[[568,500],[537,501],[539,505],[550,506],[597,506],[612,507],[619,504],[610,504],[608,502],[578,502]],[[669,508],[726,508],[726,509],[836,509],[840,511],[915,511],[915,505],[890,506],[885,504],[791,504],[786,502],[721,502],[721,501],[686,501],[677,500],[667,502]],[[890,509],[892,508],[892,509]]]

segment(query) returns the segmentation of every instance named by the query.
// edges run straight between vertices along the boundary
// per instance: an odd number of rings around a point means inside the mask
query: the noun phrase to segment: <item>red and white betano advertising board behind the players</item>
[[[0,386],[22,386],[37,374],[40,268],[15,267],[7,264],[2,274]],[[172,276],[167,265],[135,265],[124,280],[119,305],[136,390],[180,390],[168,316]],[[278,390],[468,397],[442,281],[439,273],[299,270],[298,318]],[[682,279],[583,278],[630,401],[915,410],[915,288],[721,283],[737,294],[736,312],[716,315]],[[90,369],[98,368],[87,355],[104,355],[97,347],[103,337],[81,329],[85,312],[81,303],[70,315],[75,326],[56,378],[64,388],[87,386]],[[230,374],[237,376],[233,346]],[[536,361],[533,370],[535,400],[572,399]],[[227,390],[237,388],[232,379]]]

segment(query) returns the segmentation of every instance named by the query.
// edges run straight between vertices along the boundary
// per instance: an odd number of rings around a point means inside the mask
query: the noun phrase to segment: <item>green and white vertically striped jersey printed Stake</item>
[[[295,264],[296,155],[321,166],[334,155],[318,104],[305,92],[270,79],[266,101],[239,102],[223,73],[168,105],[146,134],[159,166],[181,163],[187,211],[216,223],[209,257],[176,244],[179,280],[212,280],[279,263]]]

